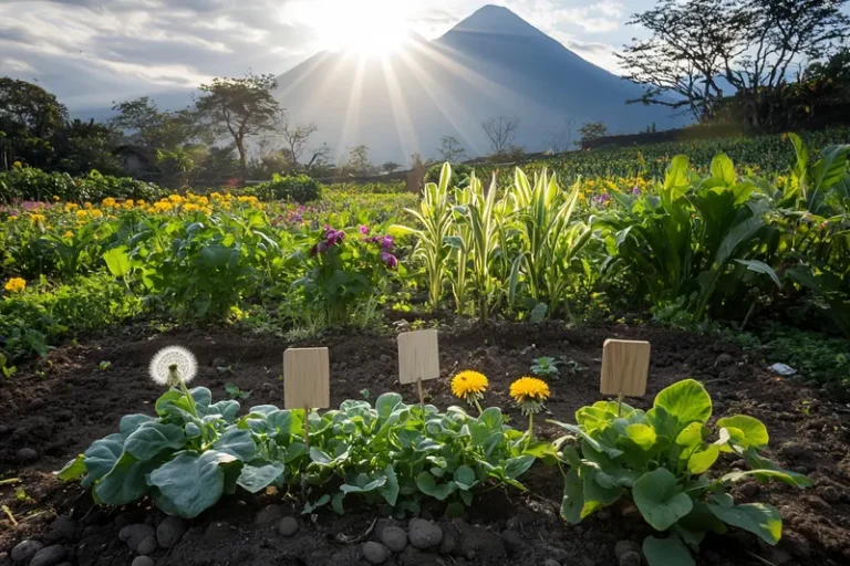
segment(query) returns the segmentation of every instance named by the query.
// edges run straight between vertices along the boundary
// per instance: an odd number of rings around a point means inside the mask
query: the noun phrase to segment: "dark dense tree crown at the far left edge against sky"
[[[68,122],[68,108],[39,85],[0,76],[0,130],[45,139]]]

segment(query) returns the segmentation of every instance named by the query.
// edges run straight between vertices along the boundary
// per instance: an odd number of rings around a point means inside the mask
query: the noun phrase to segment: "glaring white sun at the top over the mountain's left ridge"
[[[404,0],[319,0],[310,2],[311,24],[322,49],[363,55],[397,51],[410,38]]]

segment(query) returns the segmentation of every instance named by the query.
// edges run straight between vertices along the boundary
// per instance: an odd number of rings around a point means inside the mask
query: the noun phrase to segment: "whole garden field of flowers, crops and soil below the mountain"
[[[6,174],[0,564],[847,562],[847,134],[422,195]],[[645,397],[600,396],[610,337]],[[313,346],[331,408],[280,408]]]

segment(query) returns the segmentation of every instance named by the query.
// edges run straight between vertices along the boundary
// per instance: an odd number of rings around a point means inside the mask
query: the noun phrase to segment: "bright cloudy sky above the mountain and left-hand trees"
[[[74,108],[195,88],[214,76],[281,74],[325,49],[380,52],[435,39],[497,3],[612,72],[612,51],[652,0],[0,0],[0,76]]]

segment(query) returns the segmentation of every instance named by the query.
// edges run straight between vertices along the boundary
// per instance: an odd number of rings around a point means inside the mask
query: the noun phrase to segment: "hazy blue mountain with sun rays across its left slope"
[[[374,163],[436,157],[442,136],[488,153],[481,122],[519,119],[516,143],[548,148],[563,118],[611,133],[681,126],[666,108],[625,105],[642,88],[580,57],[507,8],[486,6],[443,36],[414,36],[396,53],[321,52],[278,77],[290,119],[315,122],[338,153],[365,144]],[[573,134],[573,139],[578,136]]]

